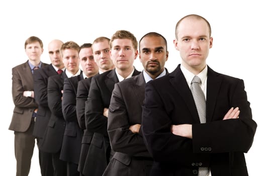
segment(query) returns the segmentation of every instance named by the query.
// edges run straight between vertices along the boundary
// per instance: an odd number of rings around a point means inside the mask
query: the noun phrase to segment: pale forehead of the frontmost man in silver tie
[[[178,29],[178,38],[186,36],[208,36],[210,37],[210,31],[207,23],[203,19],[187,18],[183,19]]]

